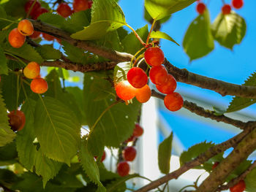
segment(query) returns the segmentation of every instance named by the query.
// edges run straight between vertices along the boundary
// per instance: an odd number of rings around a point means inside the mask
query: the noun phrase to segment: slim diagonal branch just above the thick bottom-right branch
[[[236,135],[231,139],[228,139],[226,142],[222,142],[219,145],[210,147],[205,153],[202,153],[201,155],[197,156],[197,158],[195,158],[194,160],[187,162],[186,164],[184,164],[184,166],[181,166],[176,171],[166,174],[165,176],[157,180],[154,180],[148,185],[145,185],[142,188],[139,188],[135,192],[146,192],[151,189],[157,188],[159,185],[166,183],[168,180],[177,179],[181,174],[184,174],[184,172],[187,172],[189,169],[192,169],[195,166],[203,164],[204,162],[208,161],[208,159],[214,157],[215,155],[222,153],[228,148],[237,145],[238,142],[240,142],[242,139],[244,139],[244,137],[246,137],[246,135],[250,133],[250,131],[252,131],[252,128],[246,128],[240,134]]]

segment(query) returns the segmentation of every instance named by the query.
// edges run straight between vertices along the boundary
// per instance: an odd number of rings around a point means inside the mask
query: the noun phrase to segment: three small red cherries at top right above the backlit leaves
[[[200,2],[200,0],[197,0],[197,2],[198,3],[197,3],[196,9],[197,9],[197,12],[201,15],[206,9],[206,4]],[[231,4],[232,4],[232,7],[234,7],[235,9],[240,9],[244,5],[244,0],[232,0]],[[230,4],[224,4],[222,7],[222,14],[223,15],[230,14],[231,9],[232,8]]]

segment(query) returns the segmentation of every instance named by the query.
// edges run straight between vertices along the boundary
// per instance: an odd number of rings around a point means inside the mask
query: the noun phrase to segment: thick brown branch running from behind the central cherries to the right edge
[[[221,80],[215,80],[210,77],[205,77],[200,74],[195,74],[187,71],[187,69],[178,69],[165,60],[164,63],[167,71],[176,78],[178,82],[184,82],[189,85],[195,85],[199,88],[206,88],[215,91],[222,96],[241,96],[245,98],[256,99],[256,87],[236,85]]]

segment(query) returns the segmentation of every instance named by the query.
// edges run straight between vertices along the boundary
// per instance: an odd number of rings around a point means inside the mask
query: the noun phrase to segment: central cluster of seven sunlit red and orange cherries
[[[170,111],[180,110],[183,106],[183,99],[176,90],[176,80],[173,75],[168,74],[165,66],[165,55],[159,47],[149,47],[144,53],[145,61],[151,66],[149,78],[157,90],[167,94],[164,99],[165,107]],[[124,101],[136,97],[140,103],[145,103],[151,97],[151,90],[147,85],[148,76],[143,69],[132,67],[127,73],[127,80],[118,82],[116,95]]]

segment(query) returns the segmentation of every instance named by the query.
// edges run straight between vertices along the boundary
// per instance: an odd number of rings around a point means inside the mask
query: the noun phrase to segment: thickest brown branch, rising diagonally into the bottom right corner
[[[197,192],[214,192],[217,191],[219,185],[225,182],[227,176],[234,170],[236,167],[241,164],[242,161],[255,150],[256,148],[256,129],[252,132],[238,145],[234,150],[227,155],[223,161],[211,172],[211,174],[203,181],[203,183],[197,188]]]

